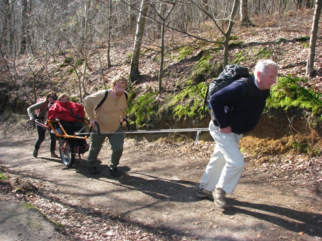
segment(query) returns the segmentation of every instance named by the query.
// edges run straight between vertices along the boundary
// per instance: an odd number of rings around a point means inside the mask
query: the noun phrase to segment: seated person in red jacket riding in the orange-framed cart
[[[66,93],[60,94],[48,110],[48,119],[59,119],[61,126],[69,136],[82,130],[83,117],[85,117],[84,107],[81,104],[70,102]],[[68,142],[74,148],[75,153],[84,153],[90,148],[85,139],[68,138]]]

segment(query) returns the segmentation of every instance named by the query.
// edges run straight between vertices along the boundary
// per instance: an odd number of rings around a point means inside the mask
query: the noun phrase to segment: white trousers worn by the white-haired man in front
[[[245,161],[239,150],[243,134],[222,134],[212,121],[209,132],[216,141],[215,149],[201,178],[200,186],[212,191],[217,185],[231,194],[243,173]]]

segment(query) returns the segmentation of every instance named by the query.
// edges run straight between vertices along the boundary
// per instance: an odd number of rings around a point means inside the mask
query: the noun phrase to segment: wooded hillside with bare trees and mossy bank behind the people
[[[210,79],[228,63],[252,71],[270,58],[280,80],[265,112],[319,128],[320,8],[308,0],[3,0],[0,112],[26,114],[49,91],[82,103],[123,74],[132,130],[207,127]]]

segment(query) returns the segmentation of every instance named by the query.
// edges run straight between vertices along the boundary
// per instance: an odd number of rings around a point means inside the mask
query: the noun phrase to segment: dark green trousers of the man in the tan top
[[[118,132],[118,133],[117,133]],[[123,153],[123,144],[124,144],[124,134],[120,133],[121,127],[114,134],[92,134],[92,143],[89,150],[89,157],[87,159],[87,165],[89,168],[95,167],[97,157],[102,149],[102,145],[105,141],[105,138],[109,139],[112,156],[110,160],[110,167],[116,168],[120,163],[120,159]]]

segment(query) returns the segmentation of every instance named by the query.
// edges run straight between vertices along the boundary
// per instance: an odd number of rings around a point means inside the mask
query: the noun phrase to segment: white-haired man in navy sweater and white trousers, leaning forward
[[[271,60],[260,60],[249,83],[236,80],[210,97],[209,132],[216,145],[197,186],[197,196],[214,199],[219,208],[226,207],[225,193],[233,192],[243,173],[245,161],[239,142],[259,123],[278,68]],[[245,98],[248,91],[252,95]]]

